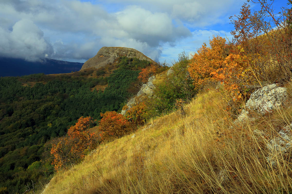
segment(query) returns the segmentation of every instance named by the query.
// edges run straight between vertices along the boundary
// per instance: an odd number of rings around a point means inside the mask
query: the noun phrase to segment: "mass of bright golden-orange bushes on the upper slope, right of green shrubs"
[[[213,36],[211,47],[204,43],[193,55],[188,70],[196,89],[203,88],[208,81],[220,81],[223,95],[232,100],[230,106],[238,106],[254,88],[254,72],[258,72],[255,55],[246,53],[240,45],[227,45],[225,41],[225,38]]]

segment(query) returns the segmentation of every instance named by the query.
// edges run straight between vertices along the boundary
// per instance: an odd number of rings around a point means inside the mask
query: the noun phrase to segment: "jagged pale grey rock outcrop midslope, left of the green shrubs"
[[[153,85],[153,81],[155,80],[155,76],[151,76],[149,79],[148,79],[148,82],[146,84],[143,84],[141,89],[139,90],[139,92],[137,93],[137,95],[133,96],[129,102],[127,103],[127,106],[128,106],[128,109],[132,108],[133,106],[135,106],[137,103],[137,97],[140,97],[142,95],[146,95],[148,98],[151,98],[154,94],[154,89],[155,89],[155,86]],[[126,111],[128,110],[122,110],[121,111],[121,114],[122,115],[125,115],[126,114]]]

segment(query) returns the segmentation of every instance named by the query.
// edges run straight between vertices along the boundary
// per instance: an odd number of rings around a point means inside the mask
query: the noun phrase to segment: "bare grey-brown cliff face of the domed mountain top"
[[[120,56],[126,56],[129,58],[135,57],[140,60],[147,60],[155,63],[154,60],[145,56],[143,53],[137,51],[136,49],[126,47],[102,47],[93,58],[88,59],[84,63],[84,65],[81,67],[81,70],[90,67],[104,67],[109,63],[114,63],[114,60]]]

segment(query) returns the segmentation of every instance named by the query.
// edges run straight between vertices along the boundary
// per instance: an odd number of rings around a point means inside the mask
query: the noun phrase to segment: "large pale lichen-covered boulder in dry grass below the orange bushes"
[[[241,111],[237,121],[244,121],[248,118],[248,111],[254,110],[259,114],[271,112],[273,109],[281,106],[287,98],[286,88],[279,87],[277,84],[271,84],[256,90],[245,104],[245,109]]]

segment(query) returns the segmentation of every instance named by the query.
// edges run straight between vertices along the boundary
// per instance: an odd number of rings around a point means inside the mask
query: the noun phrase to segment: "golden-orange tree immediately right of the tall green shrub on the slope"
[[[225,38],[213,36],[213,39],[210,40],[211,47],[207,47],[204,43],[198,53],[193,55],[188,70],[196,89],[201,88],[206,81],[211,79],[211,72],[222,67],[226,56],[224,53],[225,42]]]

